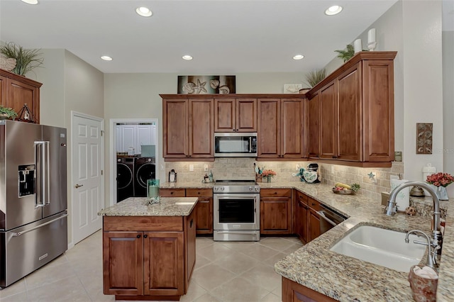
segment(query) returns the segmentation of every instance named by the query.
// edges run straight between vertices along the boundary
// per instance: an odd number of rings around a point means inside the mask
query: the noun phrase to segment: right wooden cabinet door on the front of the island
[[[145,232],[144,237],[144,294],[150,296],[183,295],[183,232]]]

